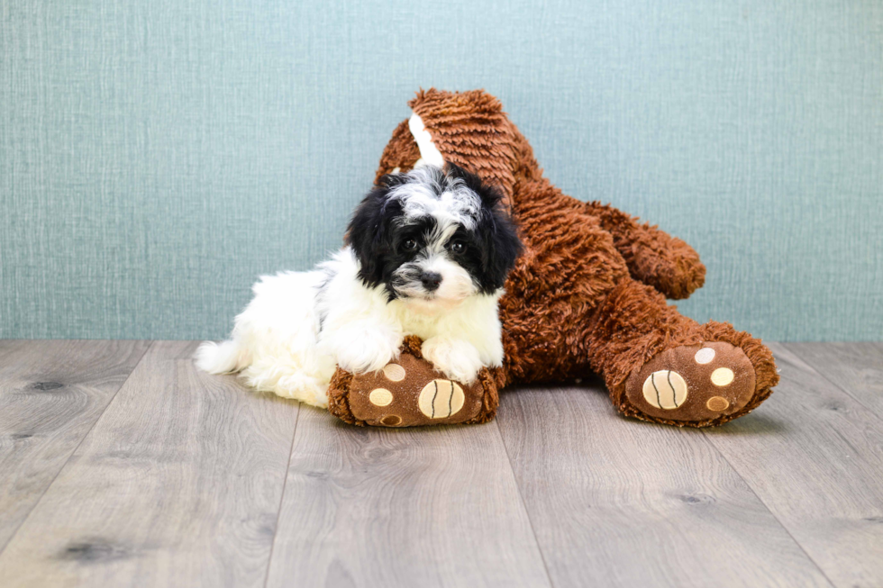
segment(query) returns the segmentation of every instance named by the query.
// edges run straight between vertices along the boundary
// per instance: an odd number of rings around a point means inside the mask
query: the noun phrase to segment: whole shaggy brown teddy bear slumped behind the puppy
[[[329,411],[379,426],[482,422],[497,389],[602,375],[621,412],[644,421],[707,427],[751,412],[778,383],[769,349],[728,323],[698,324],[666,303],[705,281],[682,240],[610,205],[561,194],[492,95],[435,89],[409,105],[380,158],[378,178],[441,158],[496,184],[524,252],[500,300],[505,362],[464,386],[445,379],[408,338],[382,373],[338,370]],[[428,132],[428,135],[426,135]],[[419,142],[419,144],[418,144]]]

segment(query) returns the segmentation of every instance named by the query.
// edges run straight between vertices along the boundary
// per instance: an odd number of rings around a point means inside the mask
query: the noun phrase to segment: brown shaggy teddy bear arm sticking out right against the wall
[[[650,223],[610,204],[588,203],[602,228],[614,237],[633,278],[651,285],[667,298],[687,298],[705,283],[705,266],[692,247]]]

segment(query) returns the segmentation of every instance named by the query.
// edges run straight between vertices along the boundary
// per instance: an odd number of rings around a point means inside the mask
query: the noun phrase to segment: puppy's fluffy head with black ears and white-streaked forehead
[[[521,251],[501,194],[461,167],[382,176],[347,231],[366,285],[389,300],[458,303],[494,294]]]

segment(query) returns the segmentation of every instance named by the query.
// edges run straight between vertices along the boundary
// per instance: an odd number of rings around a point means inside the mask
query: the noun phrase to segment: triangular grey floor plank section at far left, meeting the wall
[[[0,341],[0,551],[148,347]]]

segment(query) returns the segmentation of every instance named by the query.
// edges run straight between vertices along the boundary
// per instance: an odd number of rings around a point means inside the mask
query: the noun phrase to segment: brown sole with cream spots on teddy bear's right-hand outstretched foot
[[[662,351],[625,384],[634,408],[670,421],[708,421],[742,410],[755,374],[741,348],[705,342]]]

